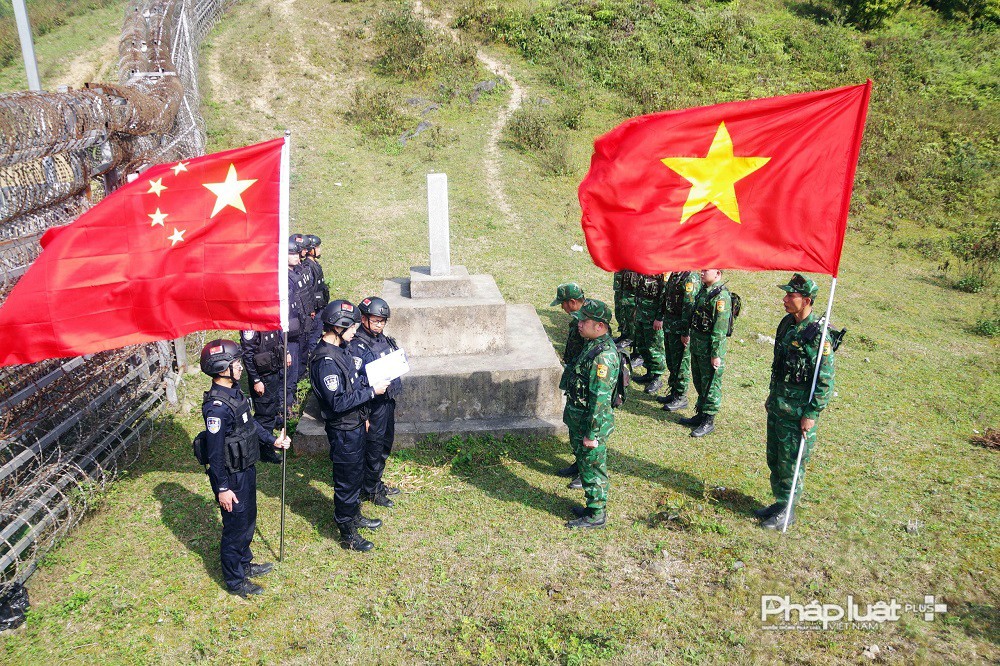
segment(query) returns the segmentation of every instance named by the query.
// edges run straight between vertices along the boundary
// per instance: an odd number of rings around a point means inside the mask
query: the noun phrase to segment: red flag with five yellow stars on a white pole
[[[0,366],[287,329],[287,165],[284,139],[157,165],[49,229],[0,307]]]

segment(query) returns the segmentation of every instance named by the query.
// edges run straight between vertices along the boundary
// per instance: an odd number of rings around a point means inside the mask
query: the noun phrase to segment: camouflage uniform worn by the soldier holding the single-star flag
[[[829,339],[823,344],[822,363],[816,381],[816,393],[809,400],[822,328],[815,313],[799,323],[786,315],[774,335],[774,362],[771,364],[771,390],[764,404],[767,409],[767,466],[771,470],[771,492],[778,502],[786,503],[792,491],[792,477],[802,438],[801,420],[817,420],[833,395],[833,351]],[[795,488],[802,492],[805,464],[816,443],[816,426],[806,433],[802,467]]]

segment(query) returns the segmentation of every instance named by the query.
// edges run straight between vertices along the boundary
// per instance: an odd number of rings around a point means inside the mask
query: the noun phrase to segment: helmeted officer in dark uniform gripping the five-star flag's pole
[[[240,391],[243,363],[232,340],[212,340],[201,350],[201,371],[212,378],[201,413],[205,417],[206,473],[222,513],[219,556],[230,593],[246,598],[264,590],[251,578],[274,567],[253,564],[250,542],[257,525],[257,468],[260,445],[287,449],[284,434],[275,437],[250,417],[250,403]],[[278,458],[280,460],[280,457]]]

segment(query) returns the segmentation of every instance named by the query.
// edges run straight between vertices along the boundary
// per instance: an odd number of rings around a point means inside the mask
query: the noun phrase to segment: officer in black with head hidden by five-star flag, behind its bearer
[[[273,432],[285,424],[284,414],[281,413],[281,398],[284,395],[281,371],[286,367],[288,357],[282,351],[281,331],[243,331],[240,334],[240,349],[249,377],[253,418],[264,426],[264,430]],[[265,462],[281,462],[281,456],[267,444],[261,444],[260,458]]]

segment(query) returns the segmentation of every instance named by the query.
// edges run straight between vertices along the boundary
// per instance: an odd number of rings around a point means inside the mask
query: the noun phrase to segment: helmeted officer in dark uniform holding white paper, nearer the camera
[[[365,420],[368,401],[376,395],[384,395],[389,385],[369,386],[365,375],[358,372],[360,362],[345,349],[361,322],[356,307],[348,301],[333,301],[323,309],[320,317],[323,338],[309,360],[309,379],[319,400],[326,421],[326,438],[330,442],[334,519],[344,548],[369,551],[372,542],[358,534],[358,528],[378,529],[382,521],[361,514]]]

